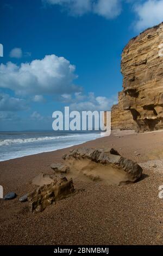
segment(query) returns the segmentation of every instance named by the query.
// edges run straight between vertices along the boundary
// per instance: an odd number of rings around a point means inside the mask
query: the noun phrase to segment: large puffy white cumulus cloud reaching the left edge
[[[18,95],[63,94],[82,90],[73,84],[76,67],[64,57],[54,54],[31,63],[0,65],[0,87]]]

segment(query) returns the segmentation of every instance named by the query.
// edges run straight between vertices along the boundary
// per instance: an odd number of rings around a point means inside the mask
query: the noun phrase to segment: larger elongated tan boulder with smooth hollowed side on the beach
[[[108,184],[127,184],[141,178],[142,168],[139,164],[121,156],[113,148],[92,149],[78,148],[62,157],[66,166],[74,172],[81,173],[92,180],[101,180]]]

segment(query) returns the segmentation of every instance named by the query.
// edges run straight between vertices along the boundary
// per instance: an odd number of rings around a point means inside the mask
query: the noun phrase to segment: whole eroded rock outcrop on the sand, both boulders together
[[[32,184],[39,187],[25,198],[31,212],[41,212],[47,206],[72,196],[75,192],[72,178],[120,185],[135,182],[142,175],[139,164],[122,157],[113,148],[78,148],[62,158],[64,163],[51,165],[53,174],[40,173],[33,179]]]

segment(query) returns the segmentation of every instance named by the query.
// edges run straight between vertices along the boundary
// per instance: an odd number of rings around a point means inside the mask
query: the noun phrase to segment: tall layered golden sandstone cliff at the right
[[[112,129],[163,129],[162,43],[163,23],[131,39],[124,48],[123,90],[118,105],[112,107]]]

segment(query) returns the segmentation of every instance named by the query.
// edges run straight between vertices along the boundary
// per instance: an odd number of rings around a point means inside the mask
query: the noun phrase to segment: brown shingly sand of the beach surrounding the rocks
[[[28,202],[18,198],[33,187],[41,172],[52,174],[51,163],[60,162],[70,149],[0,162],[4,194],[14,191],[14,200],[0,200],[1,245],[159,245],[163,242],[163,131],[145,134],[116,132],[109,137],[77,147],[113,147],[128,159],[141,163],[143,176],[129,185],[74,178],[78,193],[31,214]],[[72,149],[71,148],[71,149]],[[158,167],[152,167],[153,163]]]

